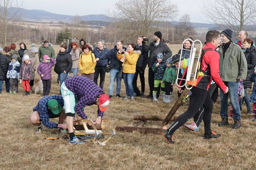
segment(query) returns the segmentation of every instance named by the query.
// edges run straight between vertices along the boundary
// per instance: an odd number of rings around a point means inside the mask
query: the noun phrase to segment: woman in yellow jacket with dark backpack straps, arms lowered
[[[84,45],[82,47],[83,53],[79,56],[79,69],[81,70],[82,76],[88,77],[93,81],[95,72],[95,56],[92,53],[90,45]]]

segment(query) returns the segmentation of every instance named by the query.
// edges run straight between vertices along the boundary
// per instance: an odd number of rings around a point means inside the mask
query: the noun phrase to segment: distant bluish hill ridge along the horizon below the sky
[[[17,8],[11,7],[11,11],[16,11]],[[74,16],[72,15],[62,15],[62,14],[55,14],[51,12],[47,12],[44,10],[38,10],[38,9],[24,9],[24,8],[19,8],[19,12],[22,14],[21,18],[23,20],[55,20],[55,21],[62,21],[62,22],[67,22],[71,23],[72,18]],[[106,15],[83,15],[81,16],[81,20],[83,21],[88,21],[86,22],[87,25],[101,25],[105,26],[107,25],[107,22],[113,21],[116,18],[111,18]],[[169,26],[174,26],[178,24],[178,21],[170,21],[168,24]],[[204,24],[204,23],[190,23],[193,27],[195,28],[210,28],[210,27],[215,27],[216,25],[213,24]],[[160,24],[162,25],[162,24]]]

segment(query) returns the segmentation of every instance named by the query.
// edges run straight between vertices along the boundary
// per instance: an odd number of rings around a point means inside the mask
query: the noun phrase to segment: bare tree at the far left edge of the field
[[[19,20],[21,13],[19,8],[23,5],[21,0],[2,0],[0,1],[1,7],[1,23],[3,23],[4,29],[2,31],[1,37],[3,38],[2,44],[5,46],[9,41],[12,41],[15,37],[14,34],[9,34],[12,30],[16,29],[15,23]],[[8,37],[7,37],[8,35]]]

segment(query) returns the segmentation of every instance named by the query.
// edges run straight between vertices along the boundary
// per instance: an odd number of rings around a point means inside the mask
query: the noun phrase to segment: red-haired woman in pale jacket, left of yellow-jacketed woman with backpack
[[[79,46],[78,44],[76,44],[76,42],[72,42],[71,43],[71,51],[70,51],[70,55],[72,58],[72,67],[71,67],[71,71],[73,73],[73,76],[76,75],[77,71],[78,71],[78,67],[79,67],[79,55],[80,55],[80,51],[79,51]]]

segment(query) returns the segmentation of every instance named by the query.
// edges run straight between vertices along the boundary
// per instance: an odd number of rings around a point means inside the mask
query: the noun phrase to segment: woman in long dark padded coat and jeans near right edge
[[[244,99],[247,107],[247,113],[251,114],[251,104],[250,104],[250,98],[247,94],[247,88],[251,89],[250,76],[253,72],[252,68],[256,66],[256,51],[255,51],[255,47],[253,46],[252,39],[250,38],[244,39],[243,49],[245,50],[244,55],[247,61],[247,76],[246,76],[246,79],[243,80],[244,97],[240,99],[240,110],[241,110],[243,99]]]

